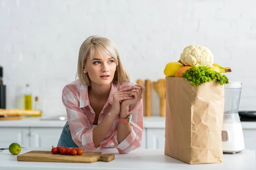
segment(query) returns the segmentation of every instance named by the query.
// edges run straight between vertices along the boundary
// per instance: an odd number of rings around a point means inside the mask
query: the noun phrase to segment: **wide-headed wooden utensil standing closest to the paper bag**
[[[165,79],[158,79],[157,82],[153,82],[153,88],[157,92],[160,100],[160,116],[166,115],[166,82]]]

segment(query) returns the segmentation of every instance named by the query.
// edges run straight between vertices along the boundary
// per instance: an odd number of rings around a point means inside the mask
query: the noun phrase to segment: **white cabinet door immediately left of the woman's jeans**
[[[30,147],[57,146],[63,128],[30,127]]]

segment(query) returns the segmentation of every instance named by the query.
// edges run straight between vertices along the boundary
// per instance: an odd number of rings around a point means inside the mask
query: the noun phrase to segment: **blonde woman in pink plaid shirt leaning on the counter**
[[[145,88],[130,81],[110,40],[94,35],[82,43],[78,77],[62,91],[68,121],[58,146],[119,153],[140,147]]]

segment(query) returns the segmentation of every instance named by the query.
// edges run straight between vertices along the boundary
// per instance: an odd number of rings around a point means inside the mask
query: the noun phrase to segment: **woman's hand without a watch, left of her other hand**
[[[113,104],[110,112],[115,116],[120,113],[120,102],[133,98],[131,95],[129,96],[128,90],[128,88],[124,88],[113,93]]]

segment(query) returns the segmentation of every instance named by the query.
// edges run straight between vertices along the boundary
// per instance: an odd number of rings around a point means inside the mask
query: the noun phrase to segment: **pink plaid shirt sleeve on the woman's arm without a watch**
[[[67,120],[73,141],[79,148],[87,152],[99,150],[101,144],[95,147],[93,143],[94,127],[90,127],[87,115],[79,107],[78,97],[68,86],[65,86],[62,91],[62,102],[67,111]]]

